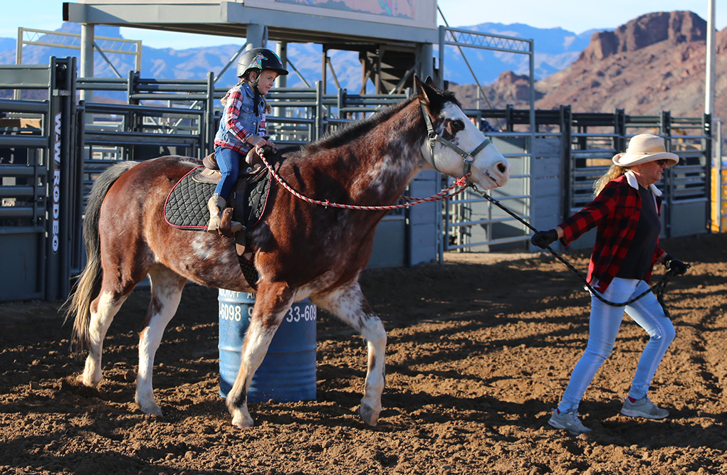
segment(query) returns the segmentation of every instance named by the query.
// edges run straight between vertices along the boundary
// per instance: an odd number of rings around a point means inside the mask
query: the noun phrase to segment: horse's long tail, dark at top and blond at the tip
[[[116,163],[106,169],[98,176],[89,193],[84,216],[84,243],[86,244],[86,267],[76,282],[73,294],[66,301],[67,309],[65,318],[75,314],[73,320],[72,348],[76,352],[82,351],[87,346],[89,320],[91,317],[91,301],[101,291],[101,280],[103,269],[101,268],[101,246],[98,230],[101,203],[106,193],[119,176],[124,174],[138,162],[124,161]]]

